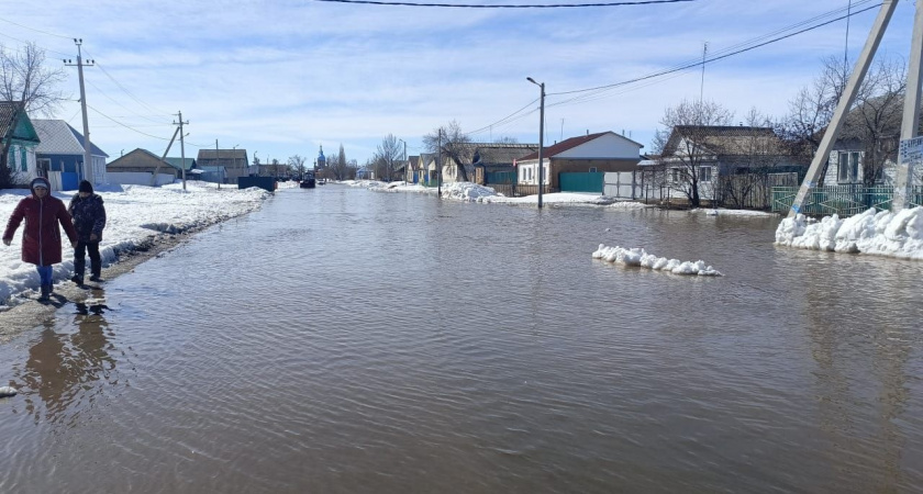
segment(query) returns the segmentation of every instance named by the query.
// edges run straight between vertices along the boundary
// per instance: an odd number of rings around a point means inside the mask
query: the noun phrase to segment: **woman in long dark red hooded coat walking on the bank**
[[[37,178],[32,181],[32,195],[23,198],[3,232],[3,244],[13,242],[13,234],[25,220],[22,236],[22,260],[35,265],[42,280],[42,297],[48,300],[52,294],[52,265],[60,262],[60,229],[64,227],[71,246],[77,245],[77,231],[70,223],[70,214],[60,199],[51,194],[48,180]]]

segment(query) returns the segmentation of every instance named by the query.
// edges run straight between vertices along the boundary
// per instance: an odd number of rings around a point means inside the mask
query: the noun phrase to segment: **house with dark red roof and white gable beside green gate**
[[[644,145],[611,131],[561,141],[542,151],[545,187],[564,191],[561,173],[635,171],[642,147]],[[538,184],[537,150],[516,160],[516,183]]]

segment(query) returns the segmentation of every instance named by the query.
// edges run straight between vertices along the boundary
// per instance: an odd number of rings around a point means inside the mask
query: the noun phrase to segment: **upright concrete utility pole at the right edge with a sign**
[[[915,138],[920,131],[920,92],[923,90],[923,0],[916,0],[909,64],[901,120],[901,146],[894,175],[894,197],[891,199],[891,211],[896,213],[907,205],[907,198],[913,187],[914,161],[920,161],[920,154],[923,151],[923,139]]]

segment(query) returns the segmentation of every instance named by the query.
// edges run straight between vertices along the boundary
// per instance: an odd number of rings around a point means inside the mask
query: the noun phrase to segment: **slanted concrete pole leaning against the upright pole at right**
[[[918,3],[921,1],[923,0],[918,0]],[[846,82],[846,89],[843,91],[843,96],[839,97],[839,102],[836,104],[833,119],[831,120],[830,125],[827,125],[824,137],[821,139],[821,145],[818,147],[818,151],[814,154],[814,159],[811,161],[811,168],[808,169],[808,175],[804,176],[804,182],[801,183],[801,188],[794,197],[794,202],[791,204],[788,217],[794,217],[798,215],[801,207],[804,205],[805,199],[811,193],[811,190],[818,187],[818,180],[821,178],[821,172],[824,170],[824,164],[826,164],[830,157],[830,151],[833,148],[833,144],[836,142],[836,137],[839,136],[839,130],[846,121],[846,113],[856,101],[856,94],[859,91],[859,86],[861,86],[863,79],[865,79],[865,76],[868,72],[871,59],[875,57],[875,52],[878,50],[878,45],[881,43],[881,36],[885,35],[885,30],[888,27],[888,22],[890,22],[891,15],[894,13],[894,9],[897,7],[898,0],[883,0],[881,3],[881,10],[878,12],[878,18],[876,18],[865,47],[863,48],[859,58],[856,60],[856,67],[849,76],[849,80]]]

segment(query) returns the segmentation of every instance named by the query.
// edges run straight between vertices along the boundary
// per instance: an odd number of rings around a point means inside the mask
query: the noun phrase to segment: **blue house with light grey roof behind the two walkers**
[[[42,143],[35,148],[38,173],[47,177],[55,190],[76,190],[84,179],[84,135],[63,120],[32,121]],[[107,155],[90,143],[93,184],[108,183]]]

